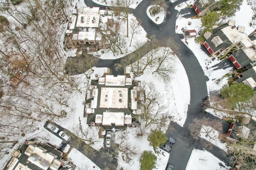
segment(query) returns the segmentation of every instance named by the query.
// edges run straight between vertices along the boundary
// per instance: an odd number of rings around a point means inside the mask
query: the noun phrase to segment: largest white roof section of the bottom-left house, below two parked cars
[[[28,161],[43,170],[48,170],[50,164],[54,160],[54,156],[48,153],[44,153],[42,149],[35,147],[33,152],[28,157]]]

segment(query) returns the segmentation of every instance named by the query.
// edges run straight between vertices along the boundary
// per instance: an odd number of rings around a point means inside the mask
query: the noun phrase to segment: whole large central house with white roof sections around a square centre
[[[86,93],[84,116],[87,124],[105,130],[139,126],[140,82],[135,77],[104,75],[92,80]]]

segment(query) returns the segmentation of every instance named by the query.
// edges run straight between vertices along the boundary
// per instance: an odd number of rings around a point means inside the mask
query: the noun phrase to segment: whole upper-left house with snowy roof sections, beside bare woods
[[[108,48],[106,39],[100,32],[104,25],[113,25],[113,16],[109,14],[107,7],[106,10],[100,10],[99,7],[78,9],[76,6],[69,20],[66,30],[68,48],[79,48],[88,52]]]

